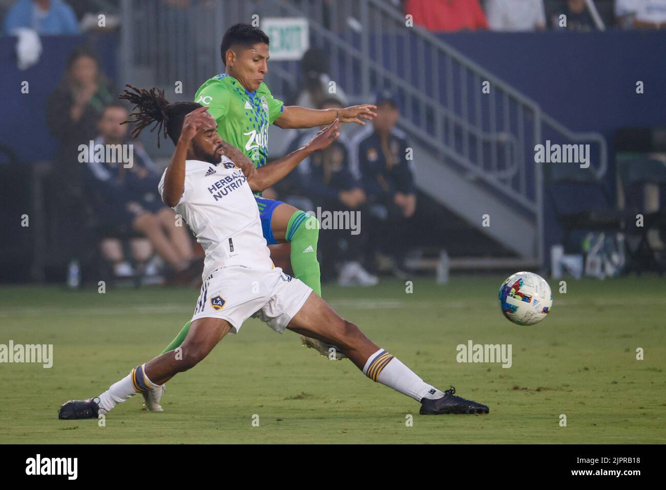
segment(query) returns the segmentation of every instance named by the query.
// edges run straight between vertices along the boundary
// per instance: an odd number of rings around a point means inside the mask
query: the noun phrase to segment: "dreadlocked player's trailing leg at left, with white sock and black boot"
[[[174,353],[161,354],[151,361],[135,367],[123,379],[107,391],[89,400],[68,401],[60,407],[60,419],[91,419],[106,414],[118,403],[137,393],[158,389],[177,373],[182,373],[198,364],[212,351],[231,329],[228,321],[204,317],[192,322],[190,331],[181,349]]]

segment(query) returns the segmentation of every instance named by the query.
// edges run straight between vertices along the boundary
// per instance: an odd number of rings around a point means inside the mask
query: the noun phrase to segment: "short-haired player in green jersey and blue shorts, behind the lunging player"
[[[270,124],[283,129],[300,129],[331,124],[336,118],[341,123],[360,125],[374,118],[376,107],[369,104],[316,110],[285,106],[282,101],[275,99],[264,83],[268,72],[269,43],[266,33],[258,27],[248,24],[230,27],[224,33],[220,47],[225,73],[208,79],[194,95],[195,102],[208,106],[208,113],[217,122],[218,135],[242,151],[256,167],[268,163]],[[299,161],[290,160],[289,170],[294,169]],[[319,226],[316,218],[282,201],[264,199],[261,191],[266,187],[252,189],[255,191],[266,242],[268,245],[289,242],[294,277],[321,295],[317,261]],[[176,349],[184,341],[189,327],[188,322],[164,352]],[[329,353],[330,346],[318,340],[302,337],[302,341],[323,355]],[[336,357],[344,355],[336,352]]]

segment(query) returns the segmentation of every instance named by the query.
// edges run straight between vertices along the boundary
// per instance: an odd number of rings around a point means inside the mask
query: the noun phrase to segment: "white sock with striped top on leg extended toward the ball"
[[[421,401],[423,398],[436,399],[444,396],[443,391],[425,383],[414,371],[401,363],[400,359],[393,357],[383,349],[379,349],[368,357],[368,361],[366,361],[363,368],[363,374],[372,381],[378,381],[403,395],[414,398],[416,401]]]

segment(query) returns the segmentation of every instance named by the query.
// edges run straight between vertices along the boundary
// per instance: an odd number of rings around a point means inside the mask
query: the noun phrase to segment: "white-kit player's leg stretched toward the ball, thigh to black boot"
[[[310,294],[287,328],[340,345],[364,375],[420,401],[422,414],[488,413],[486,405],[454,396],[454,388],[444,392],[423,381],[399,359],[370,341],[356,325],[342,319],[317,295]]]

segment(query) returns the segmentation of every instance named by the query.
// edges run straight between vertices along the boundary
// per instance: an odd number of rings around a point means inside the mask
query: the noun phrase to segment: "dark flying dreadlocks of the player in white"
[[[133,111],[130,116],[135,116],[136,119],[123,121],[125,123],[137,123],[137,126],[132,130],[132,137],[136,138],[145,127],[148,127],[153,122],[155,126],[151,129],[151,133],[159,126],[157,130],[157,147],[160,147],[160,133],[164,131],[165,137],[170,137],[173,144],[178,143],[180,131],[182,130],[182,122],[185,116],[202,107],[196,102],[176,102],[173,104],[168,103],[165,99],[165,91],[152,87],[151,89],[138,89],[132,85],[125,85],[136,93],[125,90],[125,93],[119,95],[119,99],[125,99],[134,104]]]

